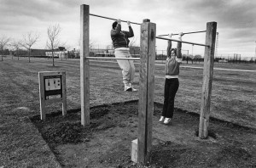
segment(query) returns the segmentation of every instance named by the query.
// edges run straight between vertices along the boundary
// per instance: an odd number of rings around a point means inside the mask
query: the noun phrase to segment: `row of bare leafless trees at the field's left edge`
[[[53,66],[55,48],[65,45],[65,42],[60,42],[59,35],[61,33],[61,26],[59,24],[49,25],[47,29],[48,40],[46,42],[46,48],[52,52]],[[36,42],[38,42],[40,35],[36,32],[29,31],[23,35],[22,40],[15,40],[7,36],[0,36],[0,49],[3,60],[3,50],[5,48],[11,48],[15,50],[19,59],[20,48],[26,48],[28,51],[28,62],[30,63],[31,49]]]

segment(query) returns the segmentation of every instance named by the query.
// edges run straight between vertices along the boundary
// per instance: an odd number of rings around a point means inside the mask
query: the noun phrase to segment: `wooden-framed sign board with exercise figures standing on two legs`
[[[62,115],[67,114],[66,72],[44,71],[38,72],[40,115],[45,120],[45,105],[62,102]]]

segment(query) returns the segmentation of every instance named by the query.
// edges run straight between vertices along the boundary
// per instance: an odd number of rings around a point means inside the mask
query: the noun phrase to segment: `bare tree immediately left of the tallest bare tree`
[[[31,54],[31,48],[32,45],[34,45],[36,42],[38,42],[39,34],[33,33],[32,31],[27,32],[25,35],[23,35],[23,40],[20,42],[21,46],[26,48],[28,51],[28,62],[30,63],[30,54]]]

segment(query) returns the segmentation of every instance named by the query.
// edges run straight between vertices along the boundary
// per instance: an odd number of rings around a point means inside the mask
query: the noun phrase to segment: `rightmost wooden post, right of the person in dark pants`
[[[206,45],[210,47],[205,48],[204,58],[203,85],[201,94],[201,115],[199,126],[199,137],[201,137],[202,139],[208,137],[216,30],[217,22],[207,22]]]

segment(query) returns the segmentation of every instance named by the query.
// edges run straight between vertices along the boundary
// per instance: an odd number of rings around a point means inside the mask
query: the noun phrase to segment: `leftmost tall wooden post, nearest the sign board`
[[[90,124],[89,5],[80,6],[81,125]]]

